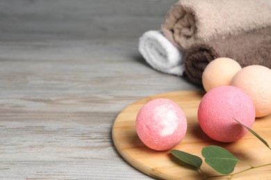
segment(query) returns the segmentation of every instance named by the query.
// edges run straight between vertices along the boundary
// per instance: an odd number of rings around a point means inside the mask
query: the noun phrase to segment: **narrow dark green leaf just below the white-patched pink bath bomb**
[[[189,165],[192,165],[195,168],[200,168],[200,166],[202,165],[202,159],[199,156],[195,156],[193,154],[189,154],[187,152],[183,152],[180,150],[172,150],[171,153],[177,159],[183,161],[183,163],[187,163]]]

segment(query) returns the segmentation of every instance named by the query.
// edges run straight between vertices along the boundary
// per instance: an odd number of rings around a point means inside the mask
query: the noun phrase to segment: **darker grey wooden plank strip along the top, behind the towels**
[[[176,0],[0,1],[1,39],[138,38]]]

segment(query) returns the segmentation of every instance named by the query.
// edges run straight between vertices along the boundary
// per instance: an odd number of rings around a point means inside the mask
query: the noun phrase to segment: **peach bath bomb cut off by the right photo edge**
[[[271,69],[260,65],[246,66],[234,75],[231,85],[250,96],[256,118],[271,114]]]

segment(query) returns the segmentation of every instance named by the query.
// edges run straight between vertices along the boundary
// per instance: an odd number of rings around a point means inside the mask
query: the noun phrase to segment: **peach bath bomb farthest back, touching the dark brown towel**
[[[202,84],[205,91],[214,87],[231,84],[231,79],[242,67],[238,62],[227,57],[219,57],[211,61],[202,73]]]

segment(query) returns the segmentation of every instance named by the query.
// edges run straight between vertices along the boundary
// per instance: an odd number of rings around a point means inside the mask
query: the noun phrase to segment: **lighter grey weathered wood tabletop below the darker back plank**
[[[137,42],[0,42],[0,179],[149,179],[115,151],[132,102],[197,89],[151,69]]]

